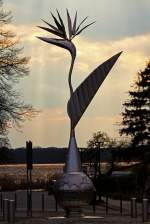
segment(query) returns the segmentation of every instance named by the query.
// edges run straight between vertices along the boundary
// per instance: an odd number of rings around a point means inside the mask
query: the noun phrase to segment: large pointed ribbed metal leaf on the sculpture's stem
[[[75,128],[86,108],[92,101],[97,90],[103,83],[109,71],[122,52],[114,55],[103,64],[99,65],[74,91],[68,101],[67,111],[71,119],[72,129]]]

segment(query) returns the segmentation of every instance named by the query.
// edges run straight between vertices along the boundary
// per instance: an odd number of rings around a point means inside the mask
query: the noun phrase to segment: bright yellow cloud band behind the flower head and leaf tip
[[[49,34],[35,25],[8,25],[8,29],[15,32],[21,42],[25,46],[27,45],[28,50],[30,49],[32,62],[43,62],[43,64],[52,62],[57,64],[59,61],[68,59],[68,54],[66,54],[64,49],[48,45],[36,39],[36,36],[49,36]],[[100,60],[105,60],[108,55],[111,56],[113,53],[122,50],[127,55],[125,60],[130,60],[130,57],[133,56],[135,58],[148,56],[150,52],[149,38],[150,33],[113,41],[91,41],[85,37],[78,37],[75,39],[78,59],[77,67],[81,68],[82,71],[87,71],[89,67],[91,68],[92,65],[97,64]],[[41,54],[39,51],[41,51]],[[44,55],[46,56],[44,57]]]

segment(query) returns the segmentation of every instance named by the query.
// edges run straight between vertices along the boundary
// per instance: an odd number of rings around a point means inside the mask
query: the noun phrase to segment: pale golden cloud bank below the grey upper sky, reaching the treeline
[[[13,29],[20,35],[26,52],[31,56],[31,75],[22,80],[20,88],[25,101],[40,107],[43,113],[30,123],[26,122],[22,134],[12,130],[12,143],[21,145],[31,138],[35,145],[67,146],[69,119],[64,111],[69,99],[67,74],[70,56],[65,50],[34,38],[35,35],[47,34],[37,34],[37,28],[14,26]],[[74,88],[99,64],[123,51],[78,124],[76,132],[80,146],[85,146],[92,133],[98,130],[106,131],[112,137],[118,136],[118,126],[114,124],[120,119],[122,103],[127,99],[126,93],[137,72],[145,67],[149,59],[149,39],[150,34],[112,41],[92,41],[85,37],[75,40],[77,60],[72,76]]]

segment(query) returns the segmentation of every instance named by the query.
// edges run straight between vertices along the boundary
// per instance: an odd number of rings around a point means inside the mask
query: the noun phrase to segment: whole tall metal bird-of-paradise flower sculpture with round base
[[[71,65],[68,75],[68,84],[70,89],[70,99],[67,105],[68,115],[70,117],[70,140],[68,147],[68,156],[64,175],[56,181],[55,193],[58,202],[66,210],[67,215],[70,211],[80,211],[85,202],[90,202],[93,197],[94,187],[92,181],[82,172],[79,152],[75,138],[75,127],[90,104],[100,85],[108,75],[109,71],[117,61],[121,52],[114,55],[102,65],[98,66],[76,89],[73,90],[71,83],[71,75],[76,58],[76,47],[72,40],[79,35],[84,29],[92,25],[94,22],[82,27],[87,20],[84,18],[77,26],[77,12],[72,22],[70,14],[67,10],[68,35],[64,22],[57,10],[56,18],[52,13],[52,18],[56,26],[46,22],[48,27],[39,26],[39,28],[48,31],[60,38],[38,37],[40,40],[49,44],[68,50],[71,54]]]

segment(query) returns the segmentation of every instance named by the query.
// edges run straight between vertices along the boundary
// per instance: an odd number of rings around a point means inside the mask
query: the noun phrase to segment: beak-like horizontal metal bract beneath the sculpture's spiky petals
[[[72,56],[73,59],[76,57],[76,48],[74,44],[71,41],[65,40],[65,39],[55,39],[55,38],[47,38],[47,37],[37,37],[40,40],[43,40],[49,44],[54,44],[58,47],[65,48],[68,50]]]

